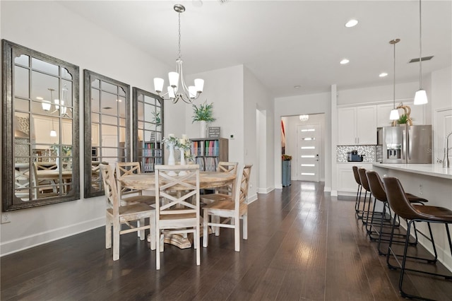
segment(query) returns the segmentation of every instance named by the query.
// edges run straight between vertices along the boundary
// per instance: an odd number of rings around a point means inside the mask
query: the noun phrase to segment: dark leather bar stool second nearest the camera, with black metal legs
[[[369,182],[369,188],[370,191],[372,193],[372,195],[374,196],[375,199],[378,199],[379,201],[383,202],[383,212],[382,212],[382,216],[385,217],[386,216],[386,208],[388,208],[389,211],[389,223],[386,223],[386,225],[392,225],[391,223],[391,208],[389,207],[388,204],[388,198],[386,196],[386,191],[384,189],[383,186],[383,182],[381,182],[381,178],[379,176],[379,174],[377,172],[368,170],[366,172],[366,176],[367,176],[367,181]],[[410,203],[418,203],[418,204],[422,204],[422,203],[426,203],[428,200],[427,199],[423,199],[420,198],[419,196],[415,196],[413,194],[406,194],[408,201],[410,201]],[[393,216],[394,219],[398,219],[397,214],[394,214]],[[396,223],[396,225],[398,226],[400,224],[400,220],[398,219],[398,222]],[[374,220],[371,220],[370,222],[370,226],[373,228],[374,225]],[[388,238],[383,238],[383,236],[388,237],[389,235],[391,235],[391,232],[384,232],[383,231],[383,225],[385,225],[384,223],[384,218],[381,218],[380,220],[380,224],[379,224],[379,230],[375,230],[376,234],[378,235],[378,251],[380,255],[386,255],[387,252],[382,252],[381,251],[381,241],[389,241]],[[416,227],[416,224],[413,224],[414,228]],[[369,233],[369,236],[372,235],[372,232]],[[400,237],[405,237],[405,235],[402,234],[394,234],[395,236],[400,236]],[[405,241],[396,241],[393,240],[393,242],[405,242]],[[415,242],[411,242],[410,244],[417,244],[417,231],[415,228]]]

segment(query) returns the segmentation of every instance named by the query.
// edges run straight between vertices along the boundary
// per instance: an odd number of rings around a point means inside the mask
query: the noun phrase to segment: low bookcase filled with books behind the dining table
[[[228,161],[229,141],[227,138],[195,138],[191,141],[191,155],[199,169],[217,170],[218,162]]]

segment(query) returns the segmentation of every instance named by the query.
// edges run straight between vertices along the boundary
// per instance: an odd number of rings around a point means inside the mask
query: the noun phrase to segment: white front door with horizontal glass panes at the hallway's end
[[[319,182],[320,125],[297,126],[297,180]]]

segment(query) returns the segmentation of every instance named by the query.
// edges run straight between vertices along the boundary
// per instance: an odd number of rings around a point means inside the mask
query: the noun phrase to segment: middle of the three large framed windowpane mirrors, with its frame
[[[100,163],[131,159],[130,87],[84,70],[85,198],[104,194]]]

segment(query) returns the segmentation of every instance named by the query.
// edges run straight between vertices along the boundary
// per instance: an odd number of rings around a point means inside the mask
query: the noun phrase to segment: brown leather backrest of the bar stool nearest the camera
[[[420,214],[412,207],[410,201],[403,190],[402,184],[396,177],[383,177],[384,189],[388,196],[388,203],[394,213],[400,218],[412,220],[420,218]]]

